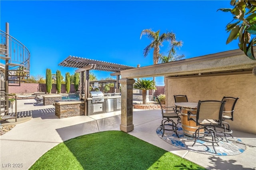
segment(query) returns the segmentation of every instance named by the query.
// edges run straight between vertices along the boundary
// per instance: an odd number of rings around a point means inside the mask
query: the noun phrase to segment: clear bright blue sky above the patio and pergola
[[[43,75],[46,69],[74,74],[76,69],[58,64],[69,55],[123,65],[152,65],[152,52],[143,56],[151,42],[144,29],[169,31],[183,45],[178,54],[185,58],[238,49],[238,41],[226,45],[225,26],[232,8],[230,0],[180,1],[0,1],[0,28],[9,23],[10,35],[31,53],[30,75]],[[167,52],[163,43],[160,52]],[[98,79],[110,72],[92,71]],[[115,78],[115,77],[113,77]],[[164,85],[163,77],[156,78]]]

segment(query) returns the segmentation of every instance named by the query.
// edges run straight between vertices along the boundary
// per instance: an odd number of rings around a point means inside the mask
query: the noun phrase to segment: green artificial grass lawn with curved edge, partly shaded
[[[205,170],[122,131],[97,132],[62,142],[30,170]]]

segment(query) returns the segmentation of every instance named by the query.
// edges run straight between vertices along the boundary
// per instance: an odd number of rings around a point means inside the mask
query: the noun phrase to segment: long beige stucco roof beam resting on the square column
[[[256,60],[240,49],[121,71],[122,78],[180,77],[202,74],[237,73],[256,67]]]

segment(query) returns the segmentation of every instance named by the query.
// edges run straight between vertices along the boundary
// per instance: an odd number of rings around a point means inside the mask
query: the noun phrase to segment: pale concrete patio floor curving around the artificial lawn
[[[17,124],[0,136],[1,170],[26,170],[52,147],[76,136],[120,130],[120,111],[58,119],[53,105],[36,104],[34,99],[18,100],[17,105],[21,117],[31,116],[32,119]],[[25,118],[19,120],[22,119]],[[234,156],[212,156],[183,150],[159,138],[156,128],[161,120],[160,110],[134,109],[134,130],[129,134],[207,169],[256,170],[256,134],[234,131],[233,136],[242,139],[246,144],[245,152]],[[22,164],[22,167],[13,167],[13,164]]]

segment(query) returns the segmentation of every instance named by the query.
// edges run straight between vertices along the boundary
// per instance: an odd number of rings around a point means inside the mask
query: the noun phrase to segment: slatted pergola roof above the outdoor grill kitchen
[[[121,65],[121,64],[110,63],[106,61],[99,61],[94,59],[86,59],[86,58],[75,57],[71,55],[69,55],[66,59],[64,59],[64,61],[62,61],[58,65],[63,67],[78,68],[79,69],[78,72],[94,69],[99,71],[109,71],[109,72],[118,73],[126,69],[136,68],[136,67],[131,67],[127,65]]]

